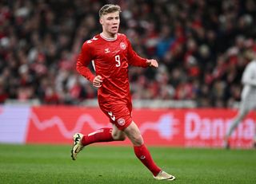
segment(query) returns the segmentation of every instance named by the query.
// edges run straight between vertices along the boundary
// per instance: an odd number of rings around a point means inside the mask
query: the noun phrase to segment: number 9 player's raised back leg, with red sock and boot
[[[115,126],[113,126],[113,128],[101,128],[88,135],[75,133],[73,135],[74,143],[71,150],[71,157],[73,160],[77,159],[78,153],[82,151],[83,147],[86,147],[89,144],[99,142],[111,142],[124,139],[126,139],[126,135],[124,134],[124,132],[118,130],[118,128]]]

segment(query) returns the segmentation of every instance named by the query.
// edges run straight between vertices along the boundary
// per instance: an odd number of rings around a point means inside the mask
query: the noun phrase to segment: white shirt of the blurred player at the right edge
[[[245,71],[242,74],[242,84],[249,84],[256,86],[256,80],[255,80],[255,71],[256,71],[256,63],[251,63],[246,66]]]

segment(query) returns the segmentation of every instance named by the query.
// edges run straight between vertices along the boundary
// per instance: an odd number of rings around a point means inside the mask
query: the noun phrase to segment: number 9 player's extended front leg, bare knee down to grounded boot
[[[150,170],[154,178],[157,180],[174,180],[173,175],[167,174],[165,171],[161,170],[152,159],[150,151],[146,148],[142,135],[137,127],[137,125],[132,122],[124,130],[127,137],[134,144],[134,153],[137,158]]]

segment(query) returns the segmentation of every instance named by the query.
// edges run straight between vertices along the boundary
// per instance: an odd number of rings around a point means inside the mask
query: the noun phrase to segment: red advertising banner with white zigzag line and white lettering
[[[236,115],[227,109],[134,109],[137,123],[147,145],[172,147],[222,147],[223,137]],[[89,134],[111,123],[99,108],[31,108],[26,143],[72,143],[75,132]],[[233,147],[251,146],[256,127],[251,112],[232,135]],[[130,144],[124,142],[114,145]]]

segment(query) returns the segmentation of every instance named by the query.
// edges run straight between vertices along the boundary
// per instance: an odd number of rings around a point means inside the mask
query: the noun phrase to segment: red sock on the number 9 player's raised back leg
[[[112,128],[105,127],[98,129],[88,135],[84,135],[82,138],[82,145],[86,146],[91,143],[99,143],[99,142],[110,142],[113,141],[113,137],[111,135]]]

